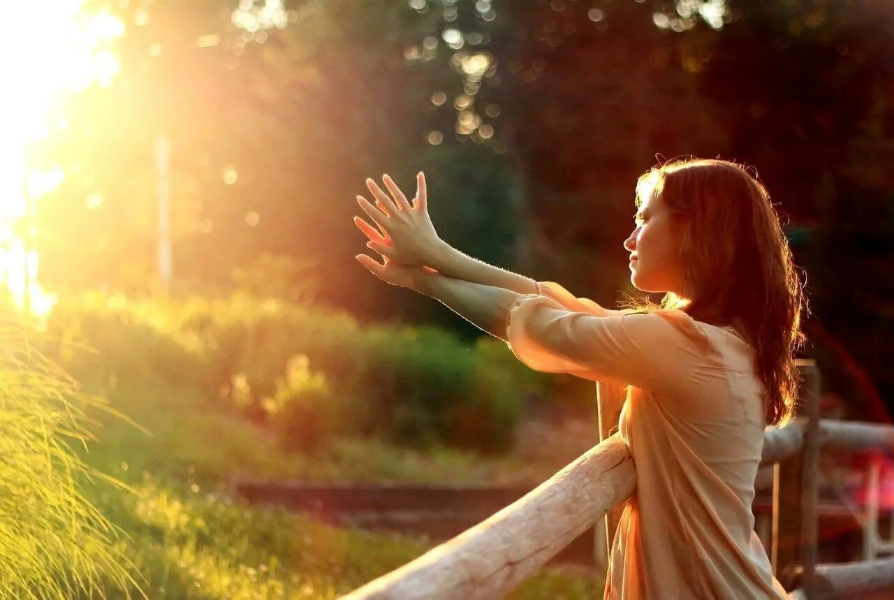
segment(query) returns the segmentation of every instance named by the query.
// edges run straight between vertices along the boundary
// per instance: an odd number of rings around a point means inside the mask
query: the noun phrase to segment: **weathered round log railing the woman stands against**
[[[810,600],[894,591],[894,557],[817,564],[816,554],[821,448],[894,453],[894,427],[820,420],[819,373],[811,360],[799,361],[799,368],[803,401],[797,419],[785,427],[768,427],[763,438],[762,464],[774,465],[773,572],[783,586],[794,588],[792,597]],[[597,386],[603,441],[593,449],[489,519],[345,598],[501,597],[597,520],[604,518],[613,535],[619,507],[637,480],[627,445],[619,435],[610,435],[623,393],[620,386]]]

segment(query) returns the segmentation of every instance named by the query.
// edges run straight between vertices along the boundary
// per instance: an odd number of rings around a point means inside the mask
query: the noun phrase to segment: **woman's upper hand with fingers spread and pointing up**
[[[362,218],[354,217],[354,224],[369,238],[367,248],[401,265],[432,265],[443,241],[434,232],[428,216],[425,174],[416,176],[416,198],[412,205],[391,177],[384,175],[383,181],[393,199],[371,179],[367,179],[367,188],[375,198],[375,207],[363,196],[357,197],[360,207],[379,227],[376,230]]]

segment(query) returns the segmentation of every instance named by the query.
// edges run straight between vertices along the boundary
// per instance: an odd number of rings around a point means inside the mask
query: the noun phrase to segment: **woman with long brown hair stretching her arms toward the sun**
[[[611,310],[441,241],[417,176],[413,203],[372,180],[384,257],[358,260],[440,300],[510,344],[528,367],[628,385],[620,435],[637,486],[614,537],[606,598],[779,598],[751,503],[765,425],[793,415],[805,298],[763,185],[740,165],[687,159],[637,182],[624,248],[630,280],[660,307]]]

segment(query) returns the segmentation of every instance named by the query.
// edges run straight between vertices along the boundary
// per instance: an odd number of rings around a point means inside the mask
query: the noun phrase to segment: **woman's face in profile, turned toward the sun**
[[[630,252],[630,283],[642,292],[683,295],[678,227],[654,193],[645,195],[635,217],[636,228],[624,241]]]

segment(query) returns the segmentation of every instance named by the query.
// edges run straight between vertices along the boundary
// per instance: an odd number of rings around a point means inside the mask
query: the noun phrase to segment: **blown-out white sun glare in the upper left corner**
[[[87,13],[87,1],[56,0],[52,10],[32,3],[0,9],[10,25],[0,37],[0,60],[11,88],[0,99],[0,286],[38,316],[46,315],[55,297],[38,283],[39,258],[29,249],[31,232],[22,223],[65,173],[58,166],[34,172],[26,155],[64,129],[66,94],[106,86],[120,68],[109,46],[124,34],[124,24],[110,13]]]

